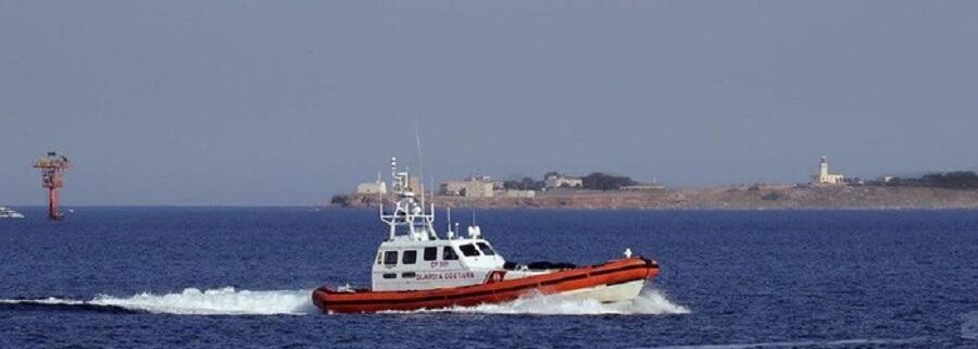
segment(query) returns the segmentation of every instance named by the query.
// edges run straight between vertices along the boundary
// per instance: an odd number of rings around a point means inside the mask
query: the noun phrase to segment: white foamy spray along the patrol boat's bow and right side
[[[673,303],[656,289],[645,289],[632,301],[602,303],[593,299],[578,299],[562,295],[535,295],[512,302],[453,307],[447,309],[417,310],[391,313],[480,313],[480,314],[539,314],[539,315],[603,315],[603,314],[688,314],[689,308]]]

